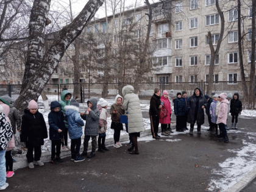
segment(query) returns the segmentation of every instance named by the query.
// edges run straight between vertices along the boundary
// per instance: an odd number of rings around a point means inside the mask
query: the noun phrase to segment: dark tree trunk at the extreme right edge
[[[251,73],[250,73],[250,98],[252,102],[252,108],[255,109],[255,12],[256,12],[256,0],[252,0],[252,53],[251,53]]]

